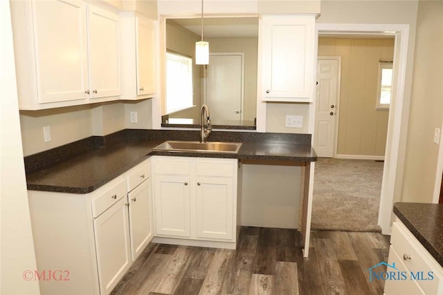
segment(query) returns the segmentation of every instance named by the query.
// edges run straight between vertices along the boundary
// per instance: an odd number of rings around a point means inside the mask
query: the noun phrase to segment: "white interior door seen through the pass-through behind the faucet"
[[[206,67],[204,102],[215,122],[243,118],[243,53],[211,53]]]

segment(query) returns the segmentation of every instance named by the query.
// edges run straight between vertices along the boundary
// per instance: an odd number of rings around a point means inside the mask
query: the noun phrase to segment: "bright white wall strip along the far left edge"
[[[37,280],[24,272],[37,269],[30,225],[28,194],[21,151],[9,1],[0,1],[0,293],[39,294]]]

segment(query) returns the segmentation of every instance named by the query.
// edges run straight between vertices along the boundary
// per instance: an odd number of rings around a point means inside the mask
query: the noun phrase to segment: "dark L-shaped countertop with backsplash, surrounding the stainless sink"
[[[127,130],[101,144],[87,146],[85,140],[25,158],[28,189],[63,193],[89,193],[131,169],[150,155],[239,160],[271,160],[313,162],[317,156],[311,148],[310,135],[285,133],[239,133],[214,131],[210,141],[243,142],[238,153],[195,153],[152,151],[165,140],[196,140],[199,131],[134,131]],[[98,140],[98,138],[94,138]],[[107,142],[107,144],[105,144]],[[309,142],[309,144],[308,144]],[[84,151],[76,153],[82,146]],[[87,147],[84,147],[87,146]],[[62,154],[74,153],[65,158]],[[58,157],[58,158],[57,158]],[[57,159],[54,159],[57,158]],[[48,162],[50,162],[48,164]]]

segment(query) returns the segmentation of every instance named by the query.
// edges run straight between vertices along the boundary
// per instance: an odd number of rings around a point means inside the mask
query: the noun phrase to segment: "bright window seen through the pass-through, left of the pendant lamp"
[[[166,113],[192,106],[192,59],[166,53]]]

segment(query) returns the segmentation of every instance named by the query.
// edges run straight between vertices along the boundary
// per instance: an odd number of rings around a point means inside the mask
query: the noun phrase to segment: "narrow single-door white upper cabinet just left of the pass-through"
[[[120,14],[122,31],[122,99],[144,99],[156,92],[155,22],[134,12]]]

